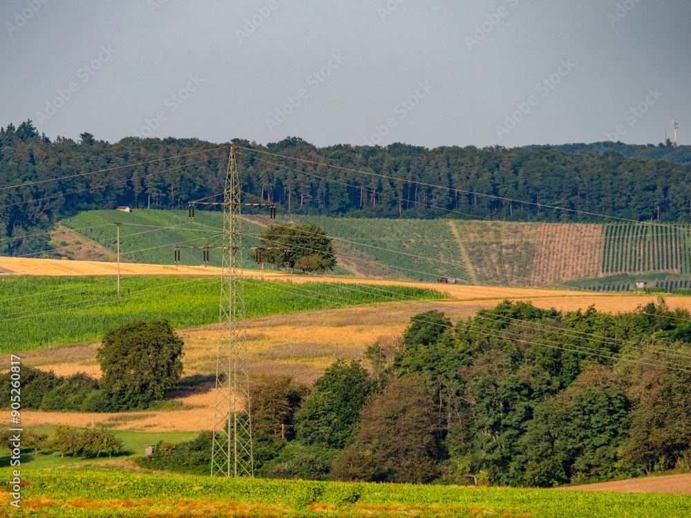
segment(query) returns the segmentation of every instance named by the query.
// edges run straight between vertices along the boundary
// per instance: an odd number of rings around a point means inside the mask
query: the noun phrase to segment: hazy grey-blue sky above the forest
[[[1,0],[0,126],[317,146],[691,143],[688,0]]]

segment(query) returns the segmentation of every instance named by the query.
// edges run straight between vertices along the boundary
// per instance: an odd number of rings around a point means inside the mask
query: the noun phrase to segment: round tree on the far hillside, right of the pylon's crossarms
[[[287,263],[291,268],[310,271],[332,270],[337,265],[332,238],[314,222],[271,225],[261,238],[273,249],[256,256],[257,262]]]

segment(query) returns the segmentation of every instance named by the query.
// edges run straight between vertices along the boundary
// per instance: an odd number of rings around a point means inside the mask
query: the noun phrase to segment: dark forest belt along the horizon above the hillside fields
[[[108,144],[89,133],[80,137],[78,143],[62,137],[50,142],[30,121],[0,128],[0,253],[49,249],[47,236],[32,236],[36,227],[47,229],[76,211],[184,209],[223,189],[227,144],[171,137]],[[281,213],[599,222],[590,212],[689,220],[690,164],[546,147],[316,148],[299,138],[267,146],[235,143],[242,147],[243,190],[277,203]]]

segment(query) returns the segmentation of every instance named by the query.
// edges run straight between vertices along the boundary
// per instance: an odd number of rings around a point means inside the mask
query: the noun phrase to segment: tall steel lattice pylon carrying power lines
[[[223,202],[214,201],[221,195]],[[241,198],[253,201],[243,202]],[[276,205],[240,191],[235,146],[230,148],[225,190],[223,193],[191,202],[191,220],[194,218],[194,207],[197,204],[223,207],[222,233],[178,245],[175,249],[176,264],[180,262],[181,248],[203,249],[205,265],[209,262],[209,249],[222,251],[211,476],[254,477],[242,251],[256,249],[257,253],[261,253],[265,247],[243,247],[239,216],[243,205],[265,205],[271,207],[273,219],[276,217]]]

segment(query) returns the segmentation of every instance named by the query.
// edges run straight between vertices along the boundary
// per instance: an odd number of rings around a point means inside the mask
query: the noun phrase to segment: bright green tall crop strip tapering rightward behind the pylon
[[[443,298],[429,289],[265,282],[245,279],[248,317],[393,299]],[[18,353],[61,343],[100,340],[133,320],[167,318],[176,329],[218,322],[218,278],[15,277],[0,282],[0,351]]]

